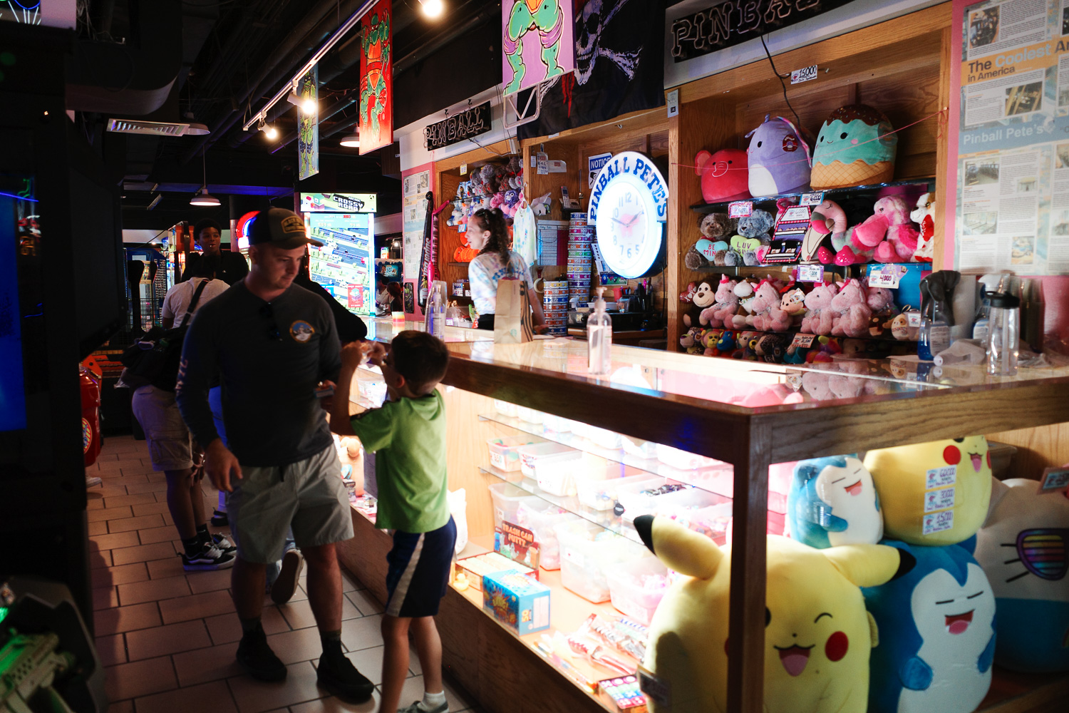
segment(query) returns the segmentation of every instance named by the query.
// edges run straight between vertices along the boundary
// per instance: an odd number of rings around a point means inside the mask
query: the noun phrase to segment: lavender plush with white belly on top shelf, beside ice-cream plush
[[[812,156],[794,124],[766,114],[764,123],[746,136],[752,195],[778,196],[808,189]]]

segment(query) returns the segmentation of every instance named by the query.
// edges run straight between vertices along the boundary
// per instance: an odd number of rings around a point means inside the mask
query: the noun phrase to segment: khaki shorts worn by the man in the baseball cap
[[[227,496],[237,556],[247,562],[281,559],[290,528],[301,549],[353,537],[348,494],[334,444],[290,465],[242,466]]]

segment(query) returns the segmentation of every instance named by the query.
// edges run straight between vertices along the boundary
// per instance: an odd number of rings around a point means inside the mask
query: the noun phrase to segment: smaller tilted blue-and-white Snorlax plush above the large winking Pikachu
[[[791,537],[810,547],[876,544],[883,515],[872,476],[856,455],[799,461],[787,494]]]

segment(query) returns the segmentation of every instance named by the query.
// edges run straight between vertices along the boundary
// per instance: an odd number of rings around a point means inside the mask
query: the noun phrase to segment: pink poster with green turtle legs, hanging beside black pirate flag
[[[501,0],[505,93],[569,74],[575,68],[572,40],[572,0]]]

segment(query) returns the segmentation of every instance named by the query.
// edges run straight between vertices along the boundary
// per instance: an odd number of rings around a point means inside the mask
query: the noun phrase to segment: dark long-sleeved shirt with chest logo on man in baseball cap
[[[315,386],[341,368],[334,316],[295,284],[269,303],[269,316],[267,305],[238,282],[197,310],[175,389],[182,418],[206,447],[218,437],[207,403],[218,379],[227,444],[242,465],[289,465],[332,443]]]

